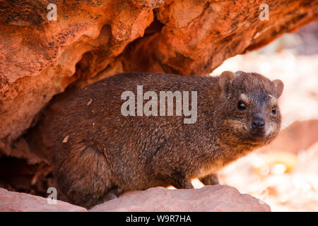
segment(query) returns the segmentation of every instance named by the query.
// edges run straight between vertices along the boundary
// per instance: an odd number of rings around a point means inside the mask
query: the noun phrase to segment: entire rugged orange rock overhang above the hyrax
[[[47,1],[0,1],[1,153],[28,158],[12,141],[74,81],[120,71],[209,73],[315,20],[317,2],[266,1],[270,17],[261,21],[260,0],[58,0],[57,21],[49,21]]]

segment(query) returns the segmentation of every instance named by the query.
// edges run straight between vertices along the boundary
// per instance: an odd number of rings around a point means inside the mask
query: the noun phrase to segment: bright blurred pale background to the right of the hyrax
[[[261,198],[272,211],[318,211],[318,22],[232,57],[211,75],[225,70],[279,78],[285,88],[276,141],[222,169],[220,183]]]

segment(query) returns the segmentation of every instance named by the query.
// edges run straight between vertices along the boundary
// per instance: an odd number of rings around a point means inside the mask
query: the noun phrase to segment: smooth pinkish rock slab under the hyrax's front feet
[[[132,191],[90,211],[271,211],[271,208],[230,186],[215,185],[201,189],[156,187]]]

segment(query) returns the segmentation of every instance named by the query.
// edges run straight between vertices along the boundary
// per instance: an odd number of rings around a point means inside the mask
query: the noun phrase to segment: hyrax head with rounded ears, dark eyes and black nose
[[[283,82],[270,81],[258,73],[224,71],[219,85],[223,126],[232,133],[232,141],[270,143],[281,129],[278,97],[283,93]]]

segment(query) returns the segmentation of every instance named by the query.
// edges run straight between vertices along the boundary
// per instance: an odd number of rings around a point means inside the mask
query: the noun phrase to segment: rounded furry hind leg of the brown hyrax
[[[102,150],[93,141],[73,141],[58,146],[54,174],[71,203],[90,208],[107,196],[116,184]]]

